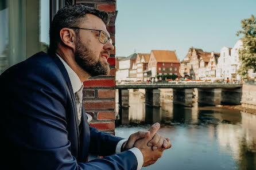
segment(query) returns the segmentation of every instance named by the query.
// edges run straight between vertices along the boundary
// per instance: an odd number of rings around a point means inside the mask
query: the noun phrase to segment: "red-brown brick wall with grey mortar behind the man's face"
[[[116,0],[76,1],[82,4],[104,10],[110,17],[107,30],[115,46],[115,17]],[[91,77],[84,82],[83,104],[86,113],[93,117],[90,125],[99,131],[115,134],[115,50],[110,52],[108,58],[110,75]]]

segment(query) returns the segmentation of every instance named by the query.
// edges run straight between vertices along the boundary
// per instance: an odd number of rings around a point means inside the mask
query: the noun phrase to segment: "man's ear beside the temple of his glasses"
[[[60,30],[61,42],[69,48],[72,48],[73,50],[75,50],[75,36],[75,31],[73,31],[72,29],[64,27]]]

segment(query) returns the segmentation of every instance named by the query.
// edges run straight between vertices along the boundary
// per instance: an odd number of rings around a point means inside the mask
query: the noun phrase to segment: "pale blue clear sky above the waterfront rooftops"
[[[256,16],[256,0],[117,0],[117,11],[116,57],[176,50],[181,61],[192,46],[232,48],[241,20]]]

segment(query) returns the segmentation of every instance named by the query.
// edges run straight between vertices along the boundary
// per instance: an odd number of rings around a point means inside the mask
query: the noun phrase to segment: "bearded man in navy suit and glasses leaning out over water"
[[[77,98],[82,82],[109,72],[107,23],[104,11],[64,7],[51,23],[49,54],[1,74],[1,169],[141,169],[171,147],[159,123],[128,140],[88,124]],[[87,161],[89,153],[104,157]]]

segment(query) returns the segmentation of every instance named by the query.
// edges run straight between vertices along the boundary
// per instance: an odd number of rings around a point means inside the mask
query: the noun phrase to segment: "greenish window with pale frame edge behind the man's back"
[[[0,74],[49,46],[50,1],[0,1]]]

